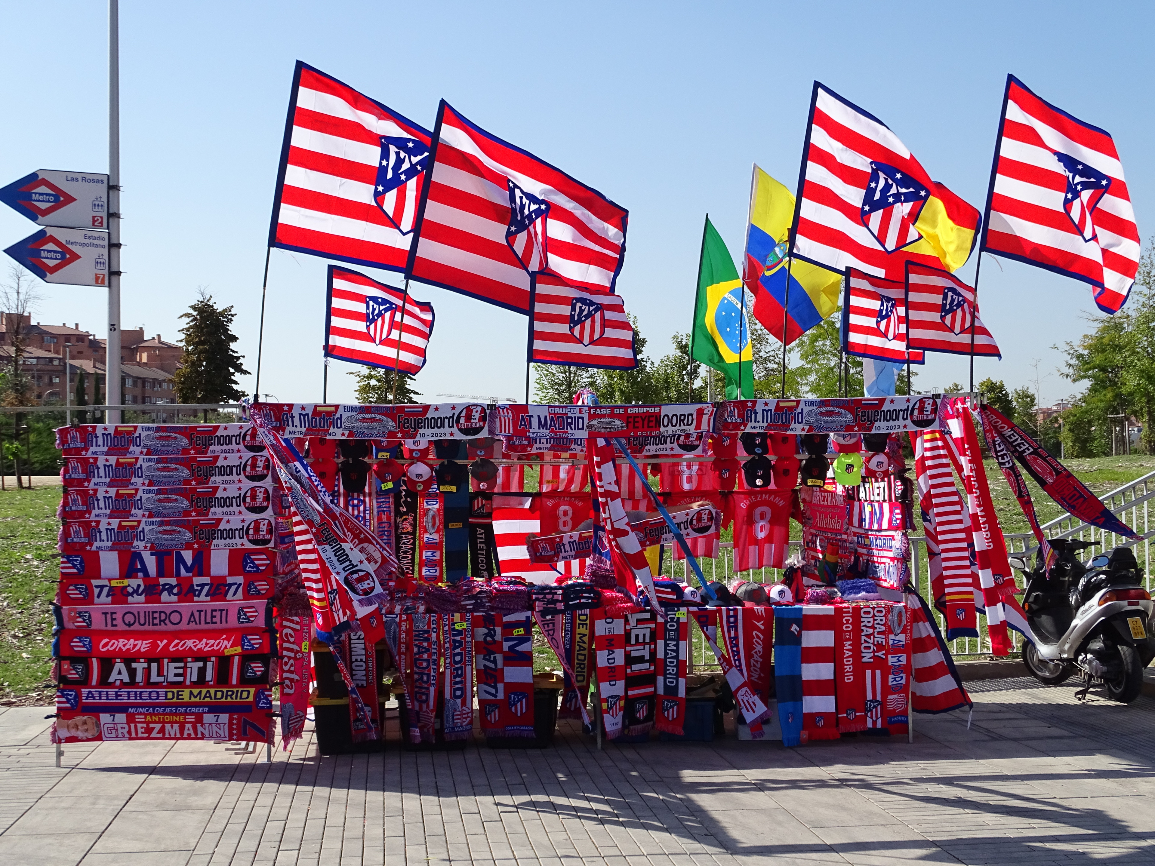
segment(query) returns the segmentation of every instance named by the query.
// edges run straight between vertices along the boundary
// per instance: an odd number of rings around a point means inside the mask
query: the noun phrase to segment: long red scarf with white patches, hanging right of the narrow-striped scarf
[[[1004,595],[1013,597],[1015,590],[1014,575],[1007,562],[1006,542],[994,516],[994,507],[991,505],[991,492],[986,486],[986,472],[982,469],[982,460],[976,460],[978,440],[967,416],[966,404],[960,405],[959,400],[944,401],[941,415],[948,431],[947,451],[967,492],[971,546],[975,551],[983,609],[986,613],[991,654],[1006,656],[1011,652],[1011,636],[1007,634],[1003,598]]]

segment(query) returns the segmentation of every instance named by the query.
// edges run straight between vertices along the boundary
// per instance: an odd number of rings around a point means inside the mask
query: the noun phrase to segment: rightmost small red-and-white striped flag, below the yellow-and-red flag
[[[907,315],[911,349],[970,354],[974,324],[975,354],[1003,357],[978,318],[974,288],[945,270],[907,266]]]

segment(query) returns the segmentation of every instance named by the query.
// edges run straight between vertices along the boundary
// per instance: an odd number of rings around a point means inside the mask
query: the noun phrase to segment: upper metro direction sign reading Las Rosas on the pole
[[[107,174],[42,169],[0,188],[0,201],[37,225],[109,227]]]

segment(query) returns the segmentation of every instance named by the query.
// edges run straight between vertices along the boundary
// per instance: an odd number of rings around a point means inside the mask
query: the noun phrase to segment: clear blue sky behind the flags
[[[1106,7],[1104,7],[1105,10]],[[293,62],[305,60],[432,127],[440,98],[629,209],[618,286],[656,358],[693,312],[702,217],[740,255],[751,163],[797,182],[812,82],[879,117],[934,179],[982,208],[1004,82],[1108,129],[1145,238],[1155,195],[1155,23],[1147,3],[1088,20],[1065,2],[929,3],[121,3],[124,327],[177,337],[204,286],[234,305],[255,371],[261,271]],[[104,171],[106,10],[9,3],[0,52],[0,181],[36,169]],[[0,247],[33,226],[3,208]],[[961,271],[974,274],[973,256]],[[740,261],[740,260],[739,260]],[[321,398],[326,260],[274,251],[261,390]],[[385,271],[378,278],[397,284]],[[46,286],[36,319],[105,333],[99,290]],[[438,394],[513,397],[526,319],[440,289],[418,376]],[[1095,313],[1083,284],[984,261],[983,319],[1003,360],[976,378],[1076,390],[1051,346]],[[930,356],[921,387],[967,381]],[[329,400],[352,397],[333,361]],[[243,380],[252,388],[252,376]]]

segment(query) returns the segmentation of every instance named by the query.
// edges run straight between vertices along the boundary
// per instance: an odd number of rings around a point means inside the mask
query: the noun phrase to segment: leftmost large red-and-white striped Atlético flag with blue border
[[[269,246],[404,270],[430,133],[297,61]]]

